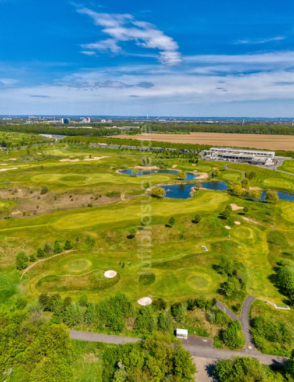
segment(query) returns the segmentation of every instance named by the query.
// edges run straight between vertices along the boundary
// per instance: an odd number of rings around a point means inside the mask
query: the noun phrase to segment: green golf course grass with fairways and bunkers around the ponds
[[[189,299],[217,298],[240,315],[244,299],[251,294],[258,301],[267,301],[263,304],[271,309],[272,319],[283,316],[285,322],[294,322],[292,310],[272,308],[274,303],[289,304],[276,281],[276,272],[281,259],[293,259],[294,203],[254,202],[230,192],[231,183],[240,182],[243,172],[252,170],[256,176],[251,188],[293,192],[294,175],[233,163],[227,163],[225,170],[223,162],[161,159],[150,154],[151,164],[161,161],[164,168],[199,175],[199,180],[188,183],[210,181],[210,173],[218,168],[220,174],[214,180],[229,186],[227,191],[200,188],[190,199],[156,198],[146,189],[178,183],[177,175],[118,173],[120,168],[140,166],[145,155],[65,142],[0,154],[2,308],[13,309],[16,295],[28,302],[42,294],[59,294],[62,299],[70,296],[77,301],[85,293],[89,301],[99,303],[124,293],[137,311],[137,301],[144,297],[164,299],[167,311],[172,304]],[[246,212],[234,209],[226,219],[222,212],[231,204],[247,207]],[[196,214],[201,217],[199,223],[194,222]],[[131,228],[142,227],[141,217],[146,215],[150,218],[148,226],[137,230],[134,237],[130,235]],[[170,225],[172,216],[175,222]],[[146,231],[148,236],[143,236]],[[148,258],[139,253],[145,240]],[[56,241],[60,248],[55,251]],[[67,241],[71,248],[63,249]],[[38,257],[45,245],[51,251]],[[17,270],[19,251],[26,251],[31,261]],[[222,269],[223,257],[230,259],[230,271]],[[105,277],[108,270],[115,271],[115,277]],[[233,293],[226,291],[230,272],[239,280]],[[212,322],[200,306],[198,303],[182,317],[182,323],[189,333],[216,338],[227,323]],[[253,308],[255,317],[261,308]],[[64,322],[71,328],[89,328],[82,320],[78,324]],[[107,325],[92,325],[90,329],[138,336],[141,332],[134,322],[130,317],[119,333]],[[269,351],[268,343],[263,345],[260,349]],[[275,354],[279,352],[287,355],[290,347],[276,345]]]

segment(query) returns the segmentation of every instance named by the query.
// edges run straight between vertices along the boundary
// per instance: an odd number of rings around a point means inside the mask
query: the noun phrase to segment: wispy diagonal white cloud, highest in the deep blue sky
[[[96,25],[103,27],[102,32],[111,37],[84,44],[83,48],[125,54],[126,52],[118,45],[119,42],[134,41],[138,46],[158,49],[158,59],[165,65],[177,65],[182,62],[177,42],[151,23],[138,21],[129,14],[98,13],[88,8],[77,8],[77,12],[90,16]]]

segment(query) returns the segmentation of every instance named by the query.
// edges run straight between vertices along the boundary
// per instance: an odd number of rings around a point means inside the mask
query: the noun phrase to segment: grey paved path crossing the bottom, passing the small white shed
[[[77,330],[70,330],[70,337],[74,340],[81,341],[93,341],[93,342],[104,342],[104,343],[115,343],[117,345],[122,345],[126,342],[138,342],[141,341],[140,338],[131,337],[119,337],[115,335],[80,332]],[[207,342],[205,342],[207,341]],[[231,351],[223,349],[213,348],[212,338],[197,337],[193,335],[188,336],[188,340],[183,340],[183,346],[186,350],[190,351],[192,356],[204,357],[207,359],[218,359],[218,358],[230,358],[231,356],[244,356],[242,351]],[[249,355],[249,354],[246,354]],[[259,358],[260,362],[265,365],[280,365],[288,361],[288,358],[271,356],[267,354],[252,354],[252,356]]]

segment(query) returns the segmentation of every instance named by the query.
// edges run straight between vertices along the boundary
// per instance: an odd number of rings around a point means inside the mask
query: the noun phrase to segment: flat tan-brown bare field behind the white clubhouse
[[[125,135],[116,136],[125,138]],[[134,135],[129,138],[141,140],[142,136]],[[189,134],[148,134],[148,140],[153,142],[204,144],[221,147],[251,147],[267,150],[292,150],[293,135],[271,134],[233,134],[233,133],[189,133]]]

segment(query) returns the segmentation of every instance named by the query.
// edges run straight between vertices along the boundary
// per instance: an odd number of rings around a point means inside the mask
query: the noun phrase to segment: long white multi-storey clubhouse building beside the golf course
[[[211,147],[206,158],[227,162],[251,163],[255,165],[273,165],[274,151],[231,149],[228,147]]]

